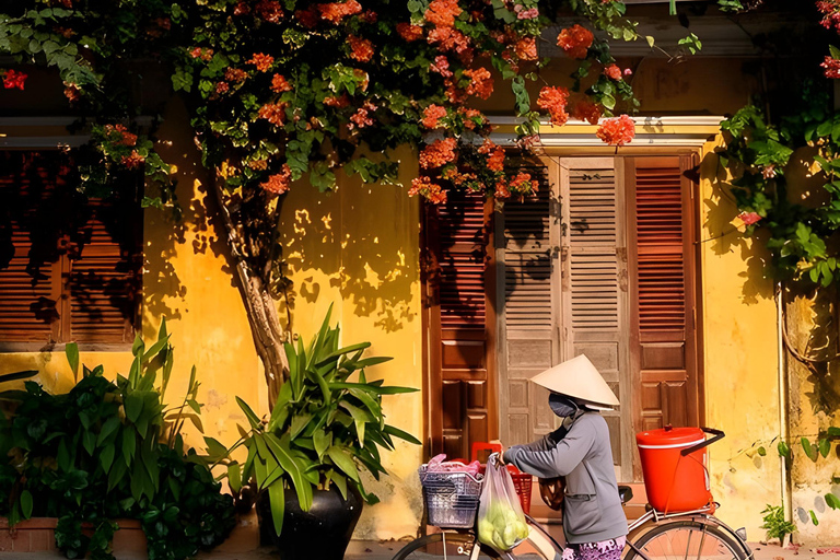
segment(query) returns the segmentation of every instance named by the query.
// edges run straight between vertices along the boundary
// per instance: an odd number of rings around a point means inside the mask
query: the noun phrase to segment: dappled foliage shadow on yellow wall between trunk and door
[[[337,191],[322,195],[301,182],[283,200],[280,240],[294,284],[281,316],[298,299],[311,304],[337,290],[354,315],[385,332],[400,330],[417,318],[418,202],[398,186],[339,182]]]

